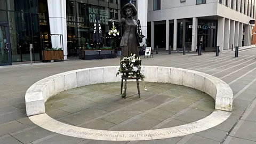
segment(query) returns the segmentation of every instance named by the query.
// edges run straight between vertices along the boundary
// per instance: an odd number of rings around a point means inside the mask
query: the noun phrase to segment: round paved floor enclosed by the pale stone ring
[[[195,122],[214,111],[210,95],[185,86],[127,82],[122,99],[120,83],[95,84],[55,95],[45,103],[46,114],[79,127],[139,131],[161,129]],[[62,115],[57,115],[56,113]]]

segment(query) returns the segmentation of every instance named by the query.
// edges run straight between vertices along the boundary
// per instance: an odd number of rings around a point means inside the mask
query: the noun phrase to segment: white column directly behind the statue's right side
[[[147,27],[148,27],[148,1],[147,0],[140,0],[137,1],[138,4],[138,19],[140,20],[142,35],[146,37],[143,38],[142,45],[146,45],[146,38],[147,38]]]

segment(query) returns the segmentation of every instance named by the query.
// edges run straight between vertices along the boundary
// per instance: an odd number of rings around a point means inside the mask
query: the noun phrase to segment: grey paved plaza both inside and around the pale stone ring
[[[234,93],[233,113],[220,125],[182,137],[150,141],[68,137],[42,129],[26,116],[25,93],[35,82],[75,69],[117,66],[119,58],[0,67],[0,143],[256,143],[256,49],[240,51],[238,58],[234,55],[234,51],[221,52],[219,57],[215,53],[198,56],[159,52],[154,58],[142,58],[145,66],[185,68],[213,75],[226,82]],[[135,83],[129,82],[129,96],[124,100],[119,95],[119,84],[96,84],[57,94],[46,102],[46,114],[63,123],[91,129],[150,130],[194,122],[214,110],[209,95],[188,87],[147,82],[145,91],[141,83],[139,100]],[[133,105],[135,102],[138,105]],[[124,106],[127,109],[120,111]]]

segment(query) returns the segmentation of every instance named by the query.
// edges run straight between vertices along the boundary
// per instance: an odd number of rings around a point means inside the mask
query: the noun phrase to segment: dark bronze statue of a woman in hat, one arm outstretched
[[[138,57],[138,46],[145,36],[139,33],[139,30],[141,30],[139,22],[133,19],[133,17],[137,15],[137,9],[133,4],[128,3],[123,6],[120,13],[123,17],[121,20],[109,21],[121,23],[125,29],[120,43],[120,46],[122,47],[121,58],[130,57],[131,54],[136,54]]]

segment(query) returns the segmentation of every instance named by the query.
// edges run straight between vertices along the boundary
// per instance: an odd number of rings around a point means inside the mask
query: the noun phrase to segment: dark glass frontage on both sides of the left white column
[[[97,18],[103,34],[100,47],[110,46],[111,38],[115,39],[114,46],[118,46],[121,35],[108,35],[112,27],[108,19],[121,19],[121,8],[120,0],[67,0],[68,55],[77,54],[82,38],[86,39],[86,47],[97,46],[92,41]],[[0,65],[30,61],[30,44],[33,60],[42,60],[42,47],[51,47],[47,0],[0,0],[0,17]],[[122,29],[117,24],[116,27]]]

